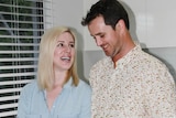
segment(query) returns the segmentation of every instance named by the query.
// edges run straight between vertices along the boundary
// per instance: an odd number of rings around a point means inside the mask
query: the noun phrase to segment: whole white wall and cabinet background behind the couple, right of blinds
[[[90,6],[98,0],[53,0],[53,24],[68,25],[78,31],[78,73],[88,78],[90,66],[103,53],[96,46],[87,28],[80,21]],[[157,57],[162,58],[176,76],[176,1],[121,0],[129,12],[131,34]]]

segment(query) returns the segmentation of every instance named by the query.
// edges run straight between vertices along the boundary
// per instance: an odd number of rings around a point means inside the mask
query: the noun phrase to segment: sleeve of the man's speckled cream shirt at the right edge
[[[168,71],[153,72],[146,81],[145,106],[151,118],[176,117],[176,89]]]

